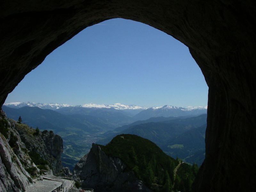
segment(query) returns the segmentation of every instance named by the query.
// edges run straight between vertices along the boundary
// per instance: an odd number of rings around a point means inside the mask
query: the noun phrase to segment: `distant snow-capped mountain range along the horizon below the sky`
[[[159,107],[140,107],[137,105],[124,105],[121,103],[111,104],[111,105],[105,105],[105,104],[95,104],[95,103],[89,103],[84,105],[68,105],[68,104],[58,104],[58,103],[32,103],[32,102],[11,102],[11,103],[4,103],[4,106],[10,107],[10,108],[22,108],[22,107],[38,107],[41,109],[51,109],[51,110],[59,110],[59,112],[65,112],[65,114],[70,112],[68,114],[74,114],[74,111],[76,111],[77,114],[84,114],[85,110],[82,110],[82,108],[85,109],[103,109],[105,111],[111,109],[116,109],[119,111],[124,112],[123,114],[126,116],[133,117],[132,121],[138,121],[138,120],[146,120],[151,117],[169,117],[169,116],[188,116],[188,115],[200,115],[207,113],[207,106],[206,107],[174,107],[171,105],[164,105]],[[78,112],[80,111],[80,112]],[[89,111],[89,110],[87,110]],[[91,115],[86,113],[86,115]],[[129,123],[129,122],[128,122]]]

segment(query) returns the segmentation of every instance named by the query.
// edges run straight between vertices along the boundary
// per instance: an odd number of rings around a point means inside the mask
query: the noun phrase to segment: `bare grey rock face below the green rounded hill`
[[[126,165],[118,158],[107,156],[100,146],[92,144],[90,152],[76,164],[74,179],[84,188],[102,192],[150,192],[132,171],[125,171]]]

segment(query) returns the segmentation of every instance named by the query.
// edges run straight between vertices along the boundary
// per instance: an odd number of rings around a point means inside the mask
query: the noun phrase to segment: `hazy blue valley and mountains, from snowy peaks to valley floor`
[[[194,134],[199,134],[196,128],[200,126],[205,131],[206,115],[201,114],[206,114],[206,108],[169,105],[145,108],[120,103],[70,106],[31,102],[12,102],[3,106],[9,118],[18,120],[21,116],[23,123],[33,128],[60,135],[64,145],[62,164],[70,170],[90,151],[92,143],[107,144],[122,133],[149,139],[166,154],[200,165],[204,160],[204,137],[194,138],[197,141],[202,138],[199,146],[188,145],[190,138],[186,138],[185,133],[194,130]],[[175,143],[175,140],[179,141]]]

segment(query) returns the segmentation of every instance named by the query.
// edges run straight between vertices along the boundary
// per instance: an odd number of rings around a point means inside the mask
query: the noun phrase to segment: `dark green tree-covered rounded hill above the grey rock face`
[[[155,192],[181,188],[188,192],[197,173],[196,165],[182,165],[186,169],[177,171],[175,179],[174,169],[180,162],[166,155],[155,143],[137,135],[117,135],[108,145],[99,146],[107,155],[120,158],[127,165],[127,171],[133,170],[138,179]]]

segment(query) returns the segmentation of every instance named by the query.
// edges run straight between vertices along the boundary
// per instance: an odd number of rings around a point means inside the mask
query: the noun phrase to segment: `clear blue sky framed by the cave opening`
[[[5,102],[206,106],[208,87],[188,47],[140,22],[88,27],[54,50]]]

